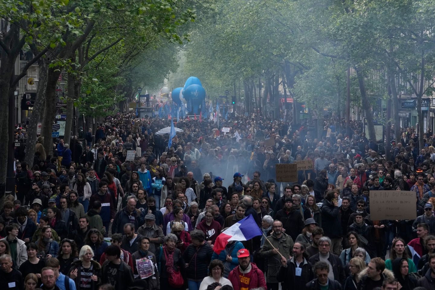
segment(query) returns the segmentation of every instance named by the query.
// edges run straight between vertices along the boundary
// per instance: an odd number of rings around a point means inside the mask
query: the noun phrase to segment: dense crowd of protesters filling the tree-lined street
[[[325,119],[315,137],[308,123],[284,120],[173,121],[182,132],[171,145],[157,134],[171,120],[117,114],[95,132],[80,128],[72,144],[56,140],[53,156],[39,137],[32,167],[17,148],[16,192],[0,213],[0,285],[434,289],[430,130],[420,149],[404,129],[387,161],[358,122]],[[314,169],[276,182],[276,164],[295,160]],[[372,190],[414,191],[417,219],[371,220]],[[215,252],[218,235],[249,215],[263,235]]]

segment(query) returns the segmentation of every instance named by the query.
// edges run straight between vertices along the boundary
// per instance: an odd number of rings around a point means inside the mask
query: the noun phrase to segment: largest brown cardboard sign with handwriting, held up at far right
[[[371,190],[371,220],[414,220],[417,217],[415,191]]]

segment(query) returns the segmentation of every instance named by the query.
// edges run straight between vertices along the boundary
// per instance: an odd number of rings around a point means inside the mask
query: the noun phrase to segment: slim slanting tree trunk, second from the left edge
[[[42,58],[38,60],[38,79],[36,90],[36,100],[33,106],[33,111],[30,114],[28,127],[26,157],[24,160],[29,164],[29,168],[33,166],[33,157],[35,155],[35,144],[37,140],[38,123],[42,121],[42,114],[45,108],[45,93],[47,91],[47,65]]]

